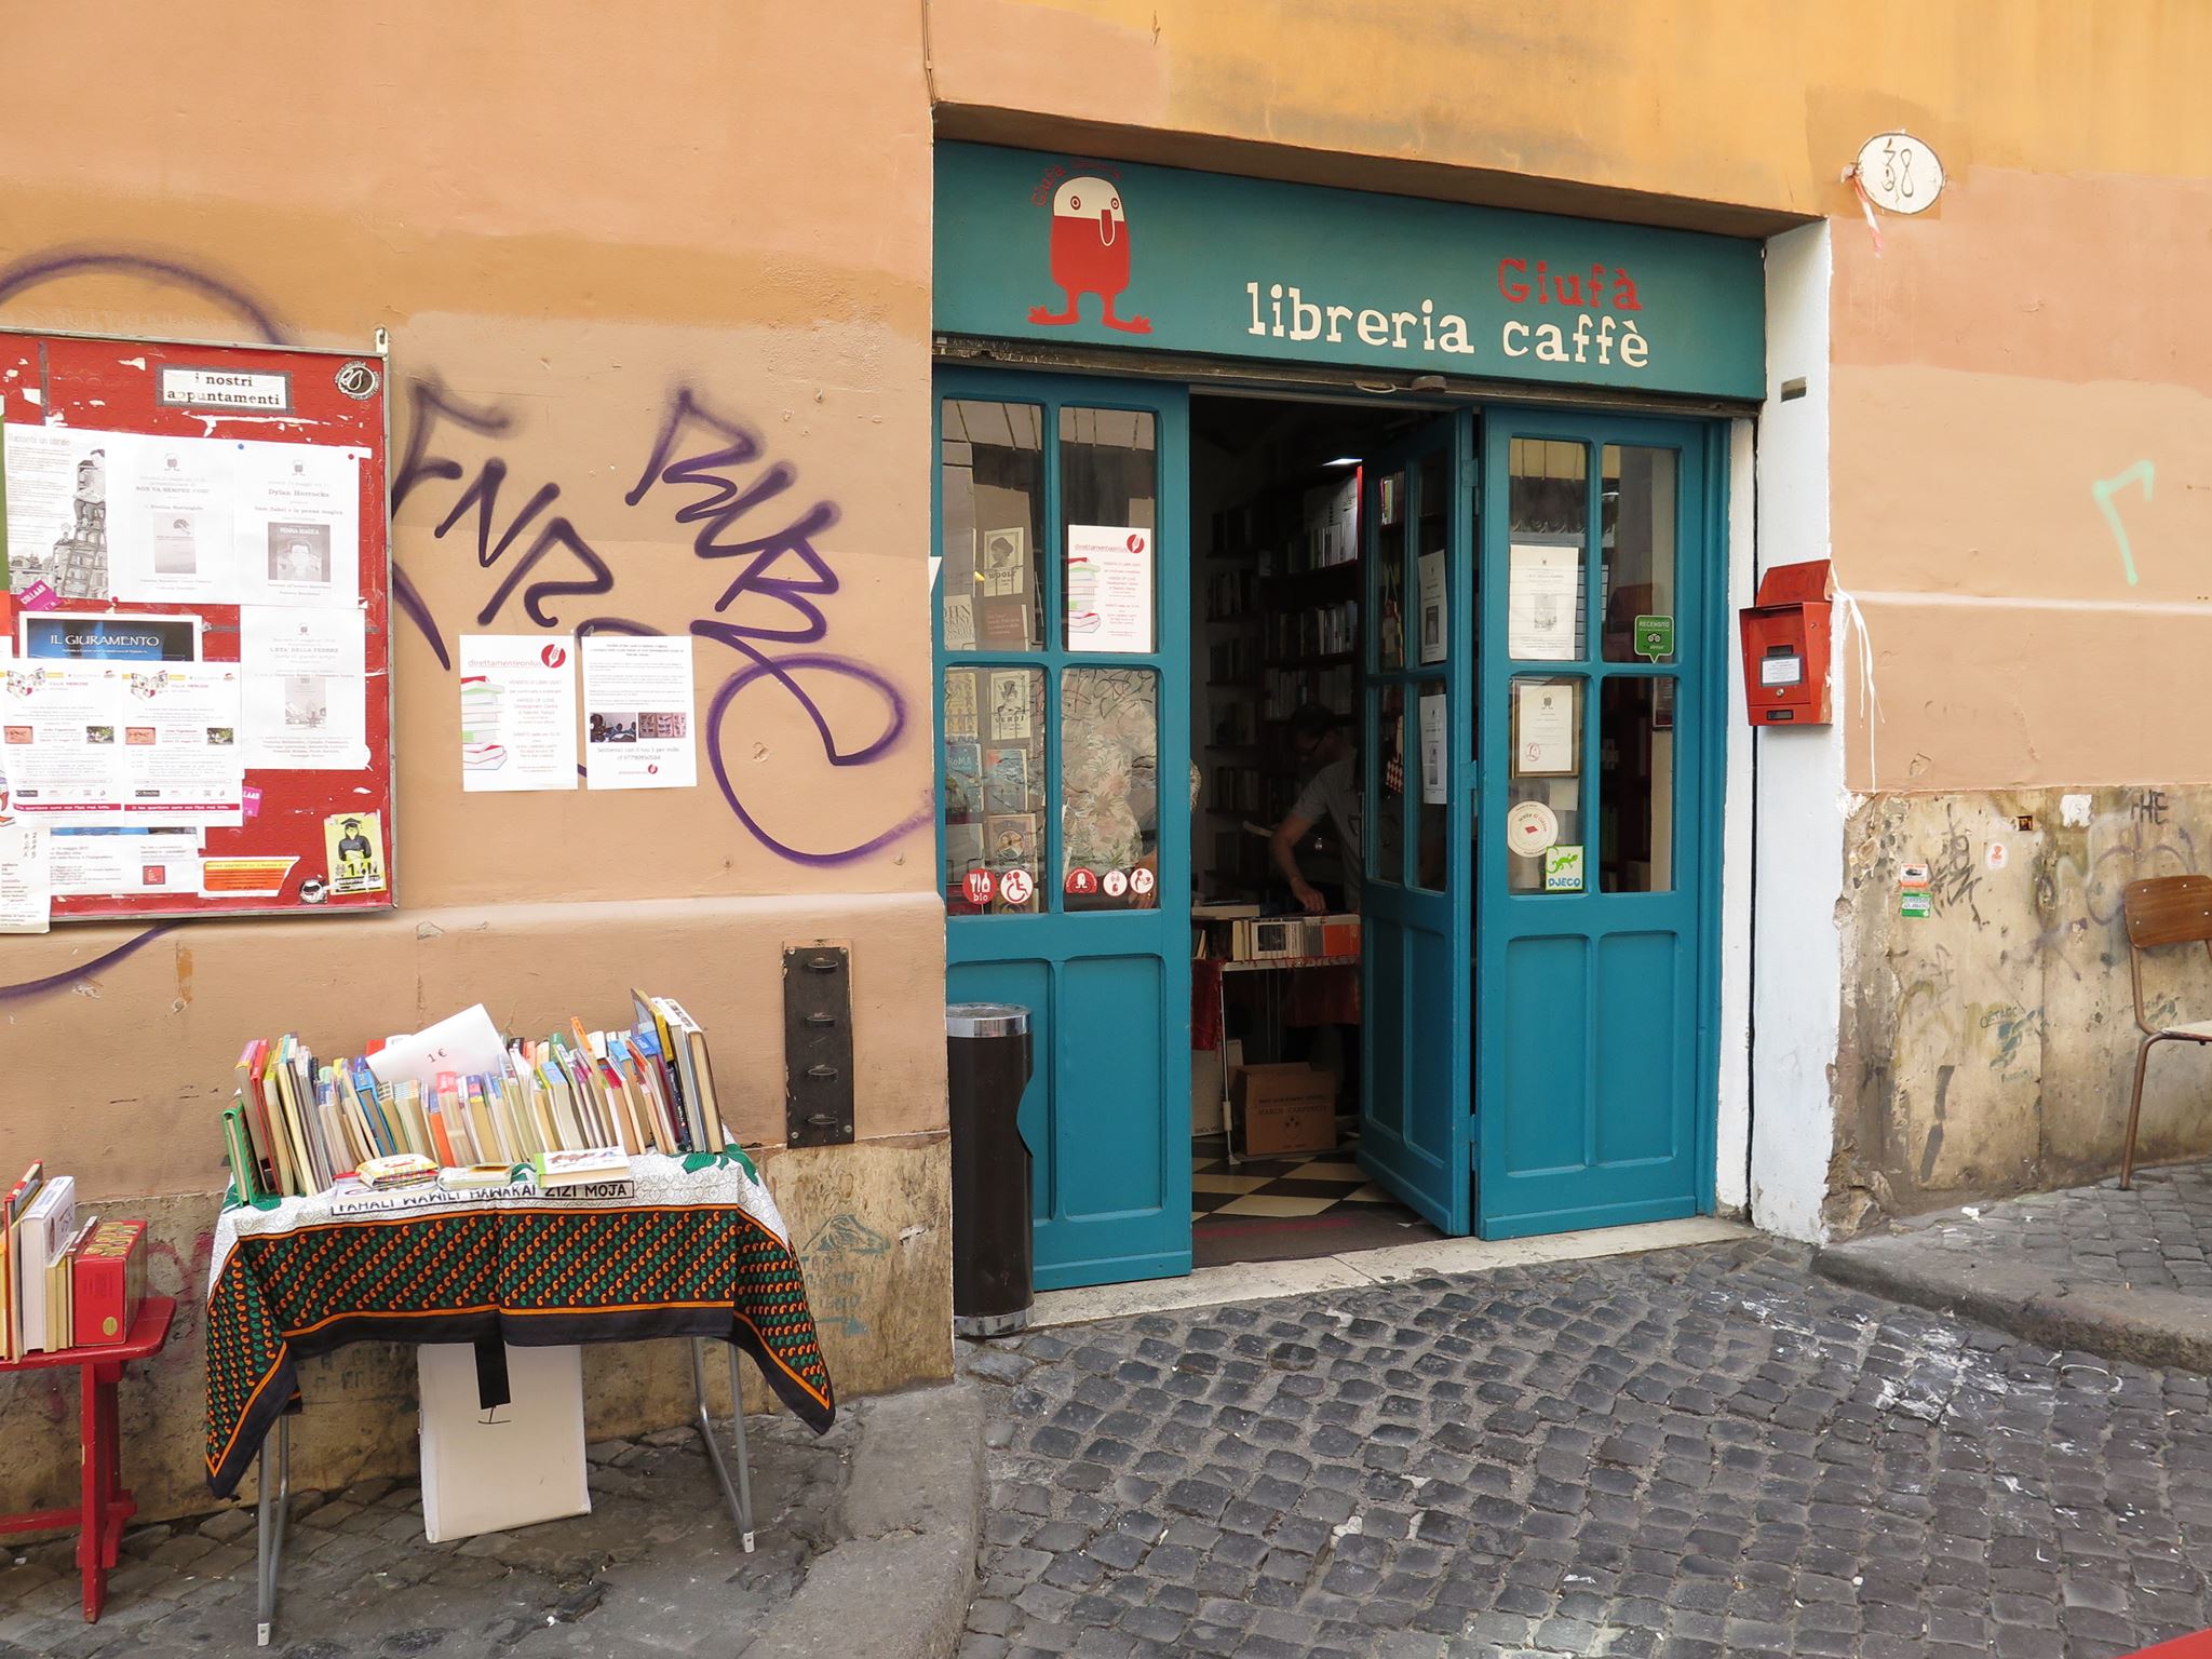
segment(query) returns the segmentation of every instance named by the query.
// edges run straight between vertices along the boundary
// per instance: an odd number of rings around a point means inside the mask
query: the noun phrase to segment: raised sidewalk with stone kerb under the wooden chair
[[[1913,1217],[1816,1265],[2033,1343],[2212,1371],[2212,1164]]]

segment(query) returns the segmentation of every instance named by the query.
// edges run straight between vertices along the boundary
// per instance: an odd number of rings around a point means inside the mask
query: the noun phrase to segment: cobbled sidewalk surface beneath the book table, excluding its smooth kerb
[[[305,1420],[312,1431],[312,1416]],[[422,1655],[734,1655],[830,1542],[849,1416],[814,1438],[748,1418],[752,1555],[690,1429],[591,1447],[593,1513],[458,1544],[422,1540],[414,1482],[294,1493],[276,1635],[283,1659]],[[254,1513],[124,1537],[100,1624],[84,1624],[75,1540],[0,1553],[0,1655],[252,1655]]]

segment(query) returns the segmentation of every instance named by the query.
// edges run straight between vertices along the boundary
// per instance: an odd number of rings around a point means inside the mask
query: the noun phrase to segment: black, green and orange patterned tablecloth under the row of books
[[[805,1279],[752,1164],[646,1155],[626,1186],[376,1194],[389,1208],[365,1214],[334,1214],[327,1192],[230,1203],[208,1267],[208,1484],[237,1489],[299,1398],[303,1358],[363,1340],[719,1336],[827,1429],[836,1396]]]

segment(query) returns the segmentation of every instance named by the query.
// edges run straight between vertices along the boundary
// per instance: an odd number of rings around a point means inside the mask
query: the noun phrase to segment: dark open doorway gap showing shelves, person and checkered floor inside
[[[1440,1237],[1358,1164],[1376,458],[1429,409],[1190,400],[1192,1265]],[[1380,595],[1385,628],[1413,595]]]

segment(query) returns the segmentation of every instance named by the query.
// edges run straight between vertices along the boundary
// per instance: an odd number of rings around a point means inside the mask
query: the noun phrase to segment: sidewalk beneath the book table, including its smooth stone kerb
[[[973,1389],[863,1400],[814,1438],[748,1418],[757,1548],[741,1553],[692,1429],[593,1444],[593,1511],[458,1544],[422,1540],[414,1482],[294,1493],[268,1655],[283,1659],[670,1659],[949,1650],[973,1586]],[[312,1431],[312,1416],[305,1420]],[[0,1553],[0,1655],[254,1655],[254,1511],[124,1537],[100,1624],[75,1540]],[[887,1599],[885,1599],[887,1597]]]

